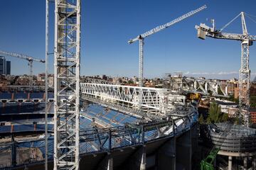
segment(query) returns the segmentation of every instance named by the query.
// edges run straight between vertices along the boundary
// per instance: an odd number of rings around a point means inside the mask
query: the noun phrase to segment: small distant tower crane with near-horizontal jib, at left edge
[[[16,52],[6,52],[6,51],[1,51],[0,50],[0,54],[1,55],[8,55],[8,56],[11,56],[11,57],[18,57],[18,58],[21,58],[23,60],[28,61],[28,66],[30,67],[30,77],[29,77],[29,85],[30,86],[33,86],[33,69],[32,69],[33,68],[33,61],[42,62],[42,63],[46,62],[45,60],[36,59],[36,58],[30,57],[28,55],[18,54]]]

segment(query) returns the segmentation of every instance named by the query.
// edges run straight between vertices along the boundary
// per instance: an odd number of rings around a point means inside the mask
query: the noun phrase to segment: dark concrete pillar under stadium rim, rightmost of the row
[[[176,140],[176,169],[192,169],[191,130],[183,133]]]

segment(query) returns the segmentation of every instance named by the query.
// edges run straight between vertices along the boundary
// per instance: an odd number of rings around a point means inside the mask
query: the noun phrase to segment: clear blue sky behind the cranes
[[[144,45],[145,77],[163,77],[164,73],[184,72],[194,77],[228,79],[238,77],[240,42],[196,37],[196,24],[215,18],[222,28],[240,11],[256,16],[256,1],[142,1],[82,0],[81,74],[137,76],[137,42],[127,41],[156,26],[206,4],[208,8],[176,25],[146,38]],[[45,1],[0,1],[0,49],[45,57]],[[53,51],[54,5],[50,4],[50,51]],[[208,21],[207,21],[208,19]],[[256,18],[254,18],[256,21]],[[247,29],[256,35],[256,23],[246,18]],[[240,18],[224,32],[242,33]],[[27,62],[8,57],[12,74],[28,73]],[[34,63],[34,73],[44,65]],[[250,69],[256,72],[256,45],[250,47]],[[53,56],[50,56],[50,72]]]

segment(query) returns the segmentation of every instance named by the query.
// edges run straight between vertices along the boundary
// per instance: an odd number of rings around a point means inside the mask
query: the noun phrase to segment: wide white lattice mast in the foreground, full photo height
[[[79,169],[80,0],[55,0],[54,169]]]

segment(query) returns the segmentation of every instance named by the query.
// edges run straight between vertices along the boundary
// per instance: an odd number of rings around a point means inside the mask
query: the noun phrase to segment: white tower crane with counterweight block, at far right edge
[[[242,20],[242,34],[236,33],[223,33],[223,29],[230,25],[236,18],[241,16]],[[248,125],[249,108],[250,108],[250,69],[249,69],[249,46],[256,40],[256,35],[249,35],[245,24],[245,13],[241,12],[238,16],[235,16],[233,20],[227,23],[220,30],[215,29],[215,22],[211,20],[213,27],[210,28],[206,24],[201,23],[200,26],[196,26],[198,30],[198,38],[203,40],[206,36],[210,38],[225,39],[225,40],[240,40],[241,41],[241,66],[239,70],[239,116],[243,118],[244,124]],[[243,115],[241,114],[243,113]]]

